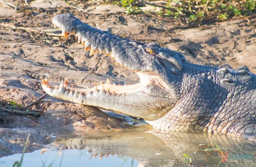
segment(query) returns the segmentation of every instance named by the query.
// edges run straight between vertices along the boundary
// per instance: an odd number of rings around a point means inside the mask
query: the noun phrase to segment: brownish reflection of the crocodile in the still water
[[[139,166],[255,166],[256,146],[248,140],[206,133],[129,130],[58,139],[63,148],[86,149],[93,157],[126,155]],[[218,150],[217,147],[220,149]],[[213,149],[215,148],[215,149]],[[222,154],[222,155],[221,155]],[[191,164],[189,158],[191,158]]]

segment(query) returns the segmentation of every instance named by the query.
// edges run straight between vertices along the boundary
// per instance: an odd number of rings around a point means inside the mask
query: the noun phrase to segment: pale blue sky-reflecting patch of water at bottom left
[[[0,158],[1,167],[11,167],[15,161],[20,161],[21,154],[9,155]],[[86,150],[65,149],[61,150],[61,154],[57,150],[46,151],[41,154],[41,150],[36,150],[32,153],[25,153],[22,162],[22,167],[48,167],[52,163],[52,167],[70,167],[70,166],[122,166],[135,167],[138,166],[138,161],[127,156],[109,156],[108,158],[99,159],[92,158],[92,153],[87,154]]]

